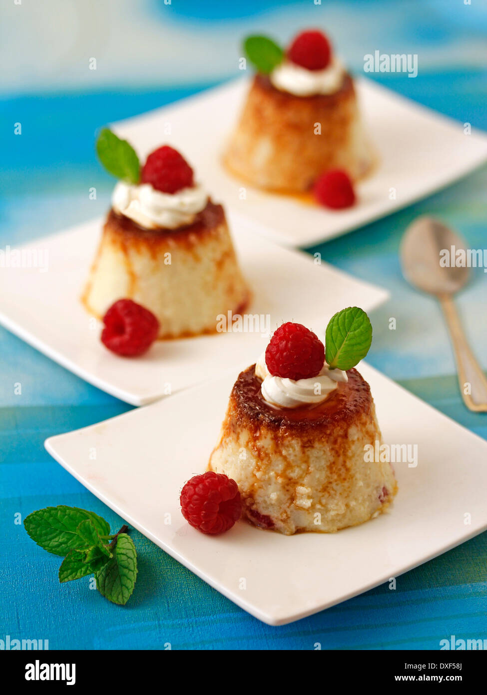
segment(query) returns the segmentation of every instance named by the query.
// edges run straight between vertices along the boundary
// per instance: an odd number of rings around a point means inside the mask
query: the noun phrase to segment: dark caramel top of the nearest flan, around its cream
[[[370,414],[372,395],[369,384],[356,369],[347,371],[348,381],[338,386],[318,405],[294,409],[274,408],[261,393],[262,380],[255,375],[255,364],[238,375],[230,402],[239,427],[266,427],[271,430],[332,430],[351,425],[361,414]]]

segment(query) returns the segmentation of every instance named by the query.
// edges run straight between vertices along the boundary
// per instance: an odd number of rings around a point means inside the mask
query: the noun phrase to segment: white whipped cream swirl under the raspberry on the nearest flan
[[[263,399],[274,408],[298,408],[302,405],[317,405],[335,391],[338,382],[347,382],[347,373],[341,369],[330,369],[325,363],[316,377],[311,379],[284,379],[272,377],[265,363],[265,352],[256,363],[256,377],[262,379]]]

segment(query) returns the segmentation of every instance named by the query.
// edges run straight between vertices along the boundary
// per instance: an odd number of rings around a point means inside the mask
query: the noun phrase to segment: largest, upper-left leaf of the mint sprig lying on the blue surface
[[[48,553],[65,556],[70,550],[86,548],[85,540],[78,534],[78,526],[86,520],[94,525],[100,536],[110,533],[110,526],[101,516],[65,505],[32,512],[24,519],[24,527],[38,546]]]

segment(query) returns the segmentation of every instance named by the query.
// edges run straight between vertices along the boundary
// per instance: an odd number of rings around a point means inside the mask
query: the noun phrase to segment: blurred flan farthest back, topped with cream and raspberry
[[[345,171],[352,181],[370,173],[376,155],[354,81],[327,37],[305,31],[288,51],[276,50],[274,62],[258,57],[259,40],[246,42],[258,72],[224,152],[227,169],[258,188],[294,195],[329,170]]]

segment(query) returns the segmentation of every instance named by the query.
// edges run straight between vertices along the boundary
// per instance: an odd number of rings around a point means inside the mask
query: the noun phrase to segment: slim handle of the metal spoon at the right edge
[[[470,410],[487,412],[487,379],[470,350],[454,301],[449,295],[441,295],[439,300],[452,338],[463,402]]]

